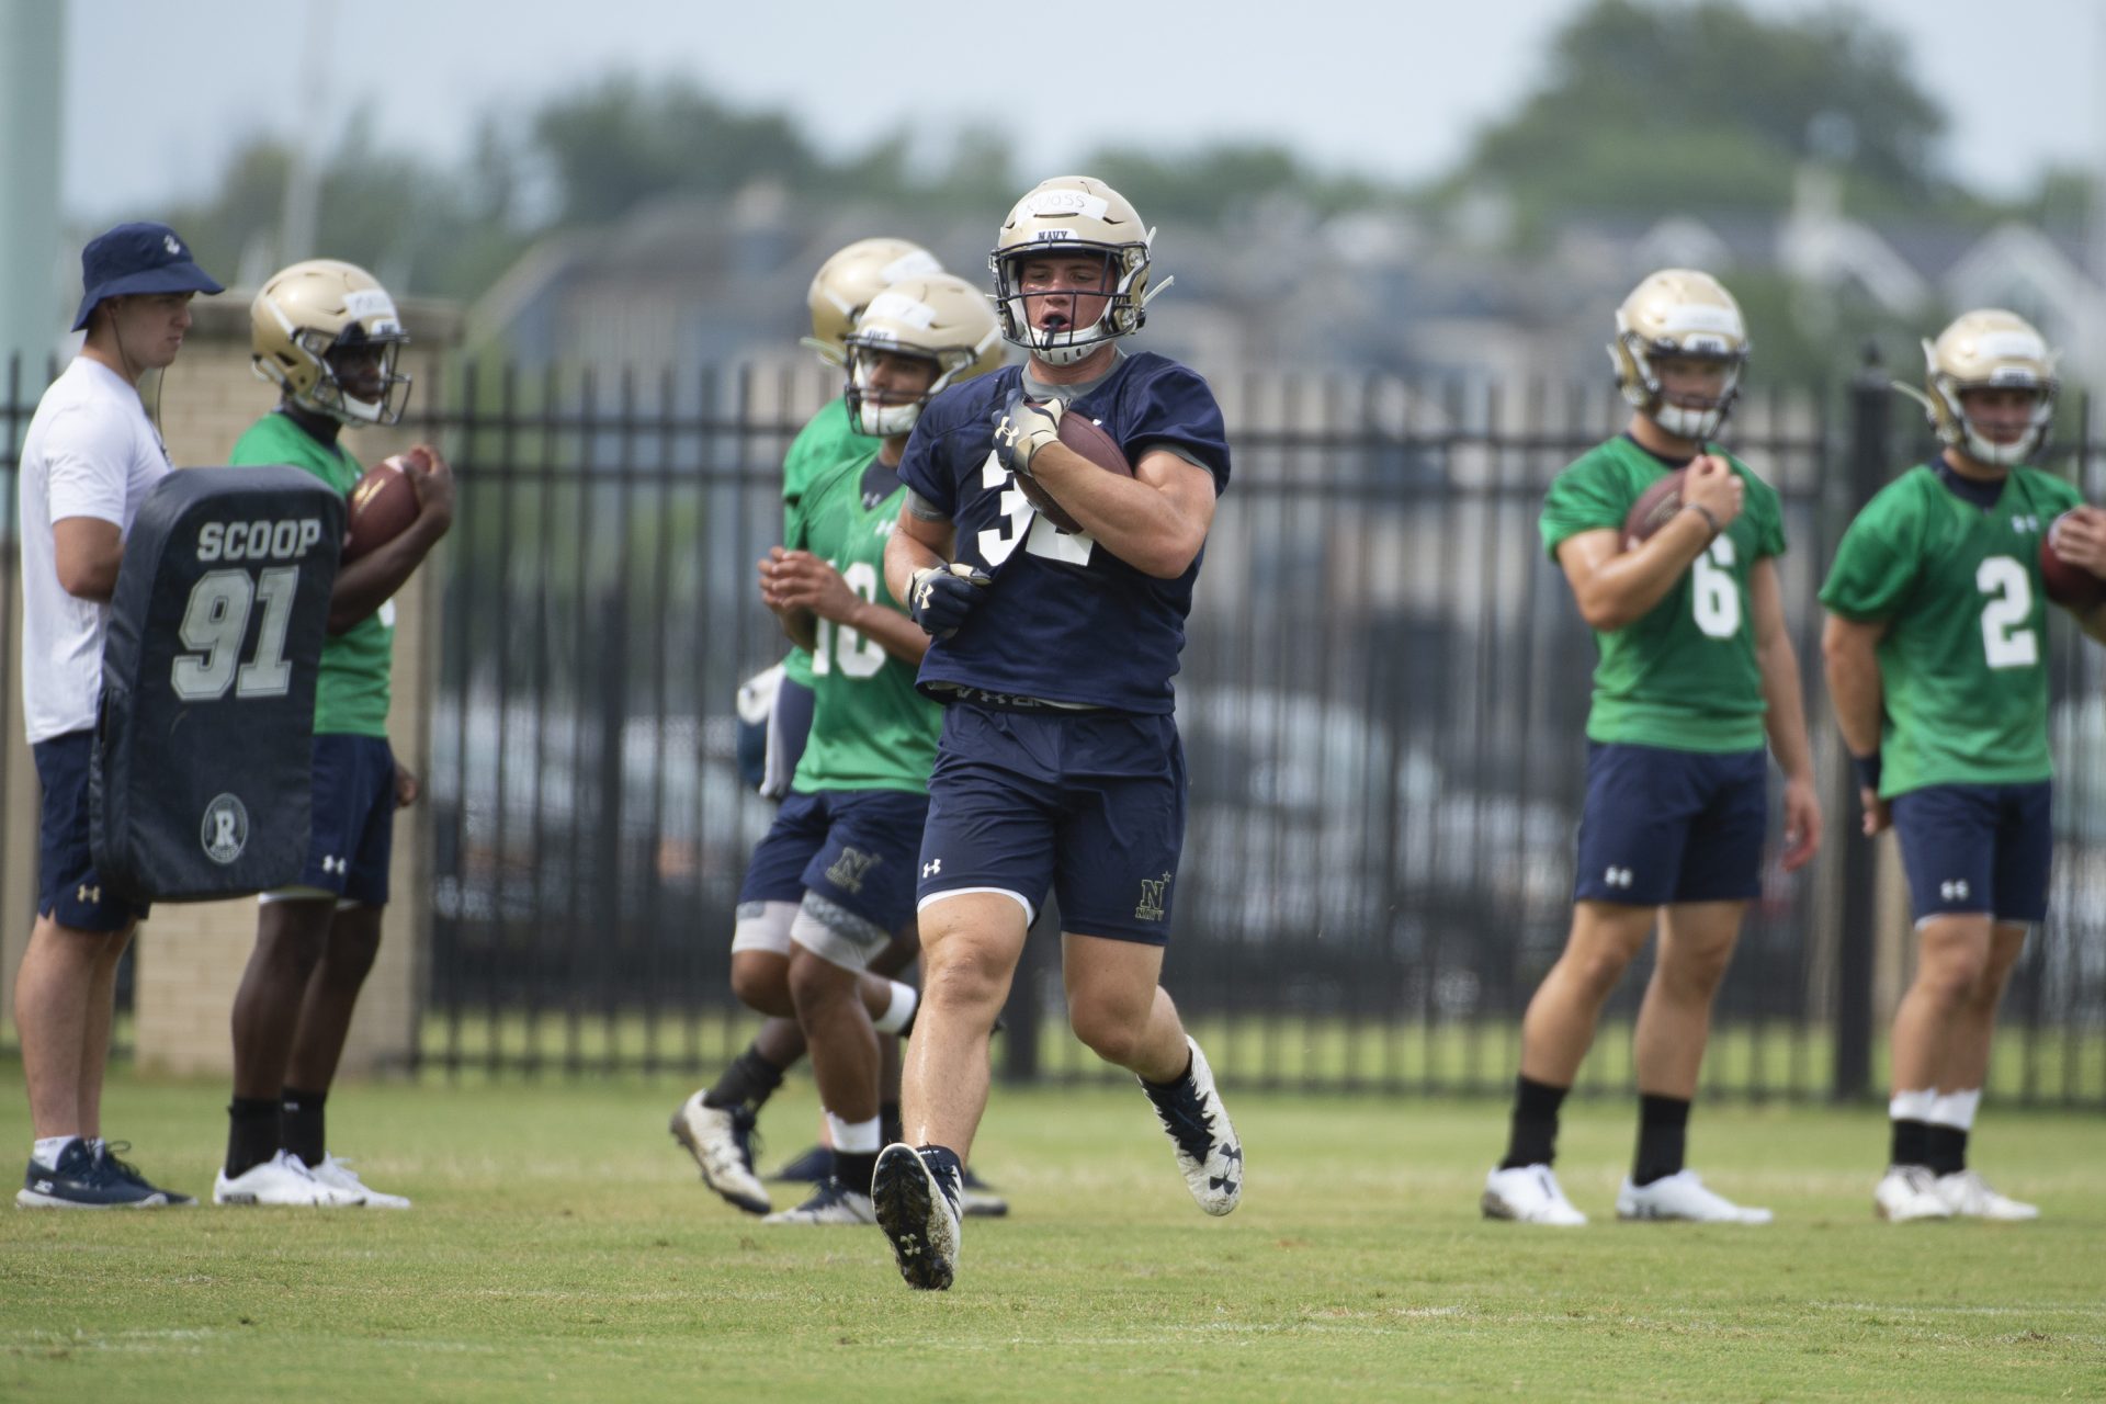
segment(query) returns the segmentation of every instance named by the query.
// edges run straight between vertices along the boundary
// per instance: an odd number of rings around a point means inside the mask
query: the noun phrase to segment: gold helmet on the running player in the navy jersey
[[[1040,181],[1009,210],[988,255],[994,269],[994,303],[1002,316],[1002,337],[1049,366],[1072,366],[1106,341],[1141,330],[1148,303],[1171,286],[1165,278],[1148,288],[1148,248],[1156,232],[1122,194],[1087,175],[1055,175]],[[1112,301],[1089,326],[1038,330],[1024,307],[1021,263],[1032,255],[1099,255]]]

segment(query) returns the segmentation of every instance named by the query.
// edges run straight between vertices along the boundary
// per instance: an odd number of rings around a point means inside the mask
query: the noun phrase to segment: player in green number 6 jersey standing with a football
[[[1657,922],[1636,1025],[1638,1149],[1615,1212],[1769,1223],[1767,1208],[1708,1189],[1683,1149],[1712,998],[1761,886],[1765,735],[1784,770],[1784,871],[1822,840],[1773,564],[1784,518],[1777,493],[1710,442],[1748,358],[1740,305],[1714,278],[1645,278],[1615,314],[1609,354],[1630,425],[1558,474],[1539,520],[1601,650],[1573,924],[1521,1025],[1512,1132],[1483,1210],[1586,1223],[1552,1172],[1558,1109],[1603,1004]],[[1681,512],[1626,549],[1632,505],[1674,469],[1687,469]]]

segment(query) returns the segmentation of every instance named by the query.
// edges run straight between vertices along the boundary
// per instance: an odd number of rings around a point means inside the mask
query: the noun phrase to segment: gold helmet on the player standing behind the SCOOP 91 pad
[[[337,259],[307,259],[280,269],[249,303],[249,364],[293,404],[350,425],[396,423],[411,377],[396,373],[409,343],[394,299],[366,269]],[[373,356],[377,385],[356,389],[337,377],[331,356]]]

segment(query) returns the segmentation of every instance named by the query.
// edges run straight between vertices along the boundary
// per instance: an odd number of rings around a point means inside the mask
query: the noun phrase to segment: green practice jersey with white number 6
[[[1763,674],[1754,661],[1748,575],[1784,554],[1775,488],[1727,457],[1746,484],[1742,512],[1683,573],[1666,598],[1622,629],[1594,629],[1590,741],[1676,751],[1752,751],[1763,745]],[[1630,438],[1588,450],[1550,484],[1537,522],[1544,549],[1586,530],[1622,535],[1645,488],[1672,469]]]

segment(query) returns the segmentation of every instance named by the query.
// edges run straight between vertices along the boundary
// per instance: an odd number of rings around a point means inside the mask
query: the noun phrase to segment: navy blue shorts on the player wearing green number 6
[[[1767,751],[1588,741],[1573,901],[1748,901],[1767,829]]]

